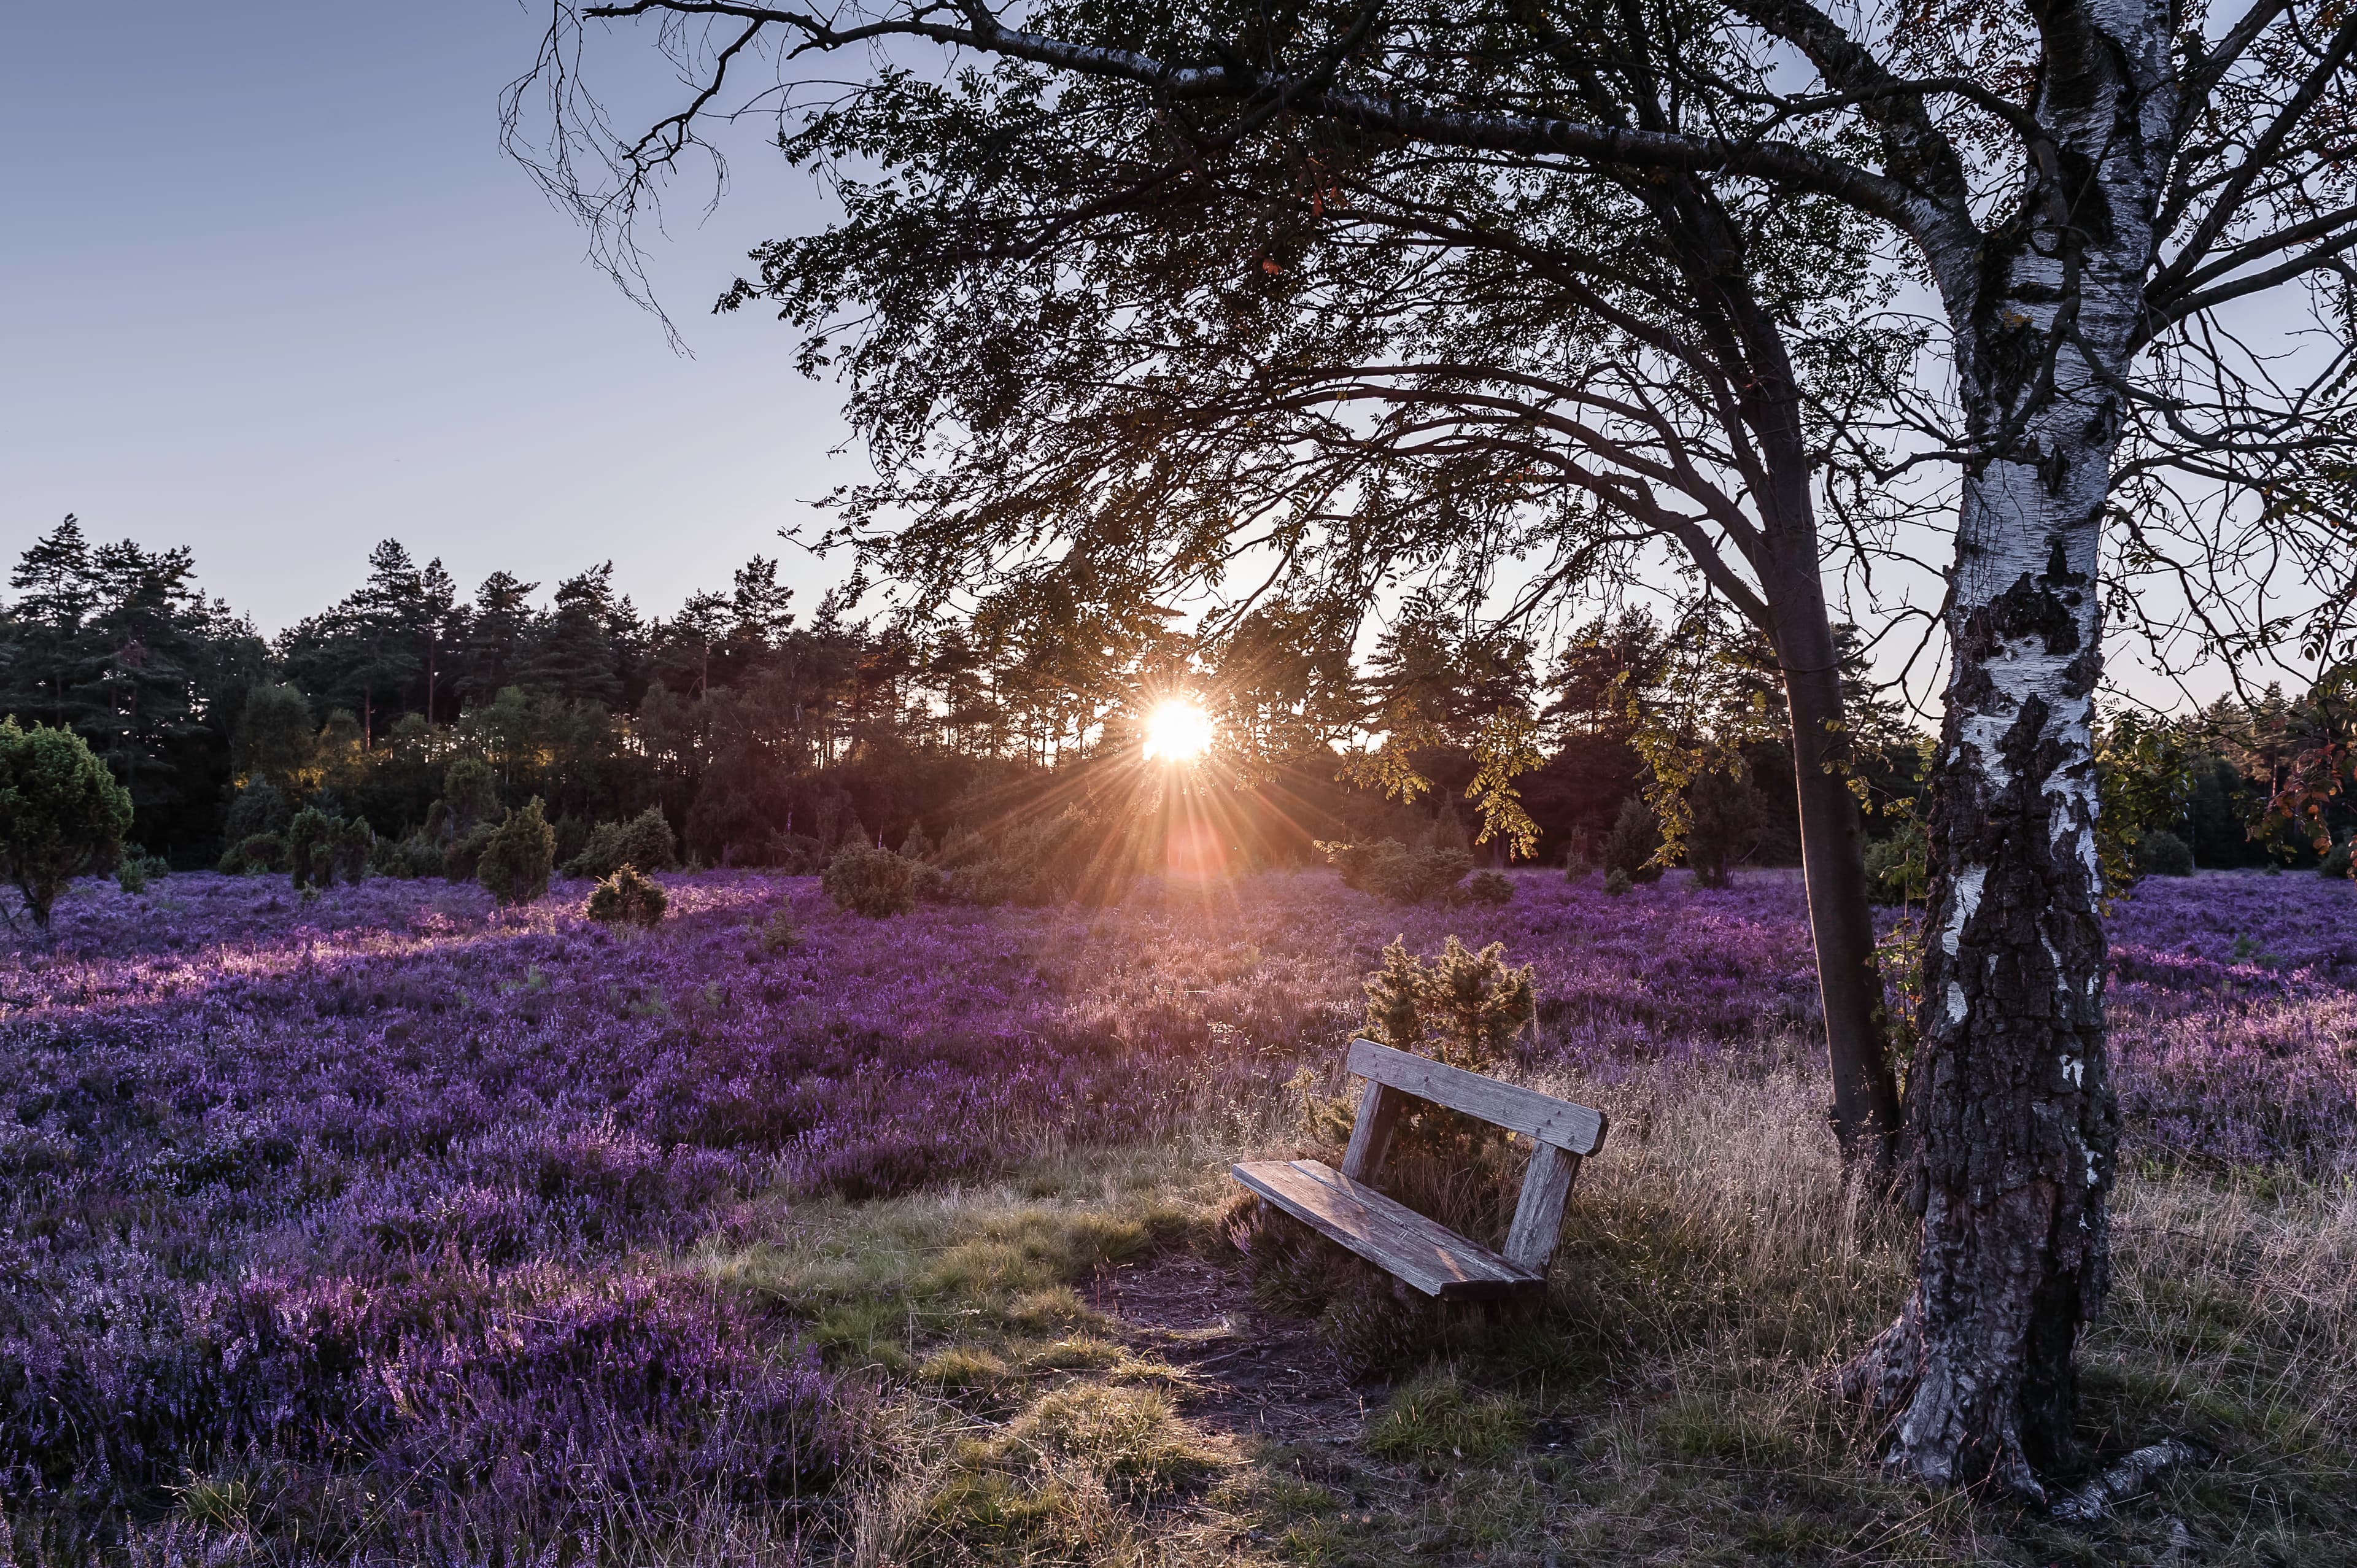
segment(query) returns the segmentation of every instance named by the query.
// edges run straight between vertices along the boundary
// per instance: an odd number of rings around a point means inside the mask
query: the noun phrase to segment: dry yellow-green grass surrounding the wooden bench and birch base
[[[1490,1320],[1402,1302],[1332,1257],[1292,1280],[1336,1349],[1398,1368],[1339,1450],[1221,1438],[1188,1415],[1195,1382],[1110,1316],[1124,1266],[1207,1243],[1235,1259],[1221,1172],[1249,1148],[780,1203],[700,1259],[900,1391],[846,1561],[2357,1561],[2345,1188],[2121,1184],[2112,1313],[2081,1358],[2088,1441],[2187,1434],[2223,1457],[2088,1535],[1886,1481],[1827,1394],[1897,1311],[1909,1240],[1843,1195],[1808,1078],[1558,1087],[1605,1099],[1615,1144],[1582,1170],[1544,1304]]]

